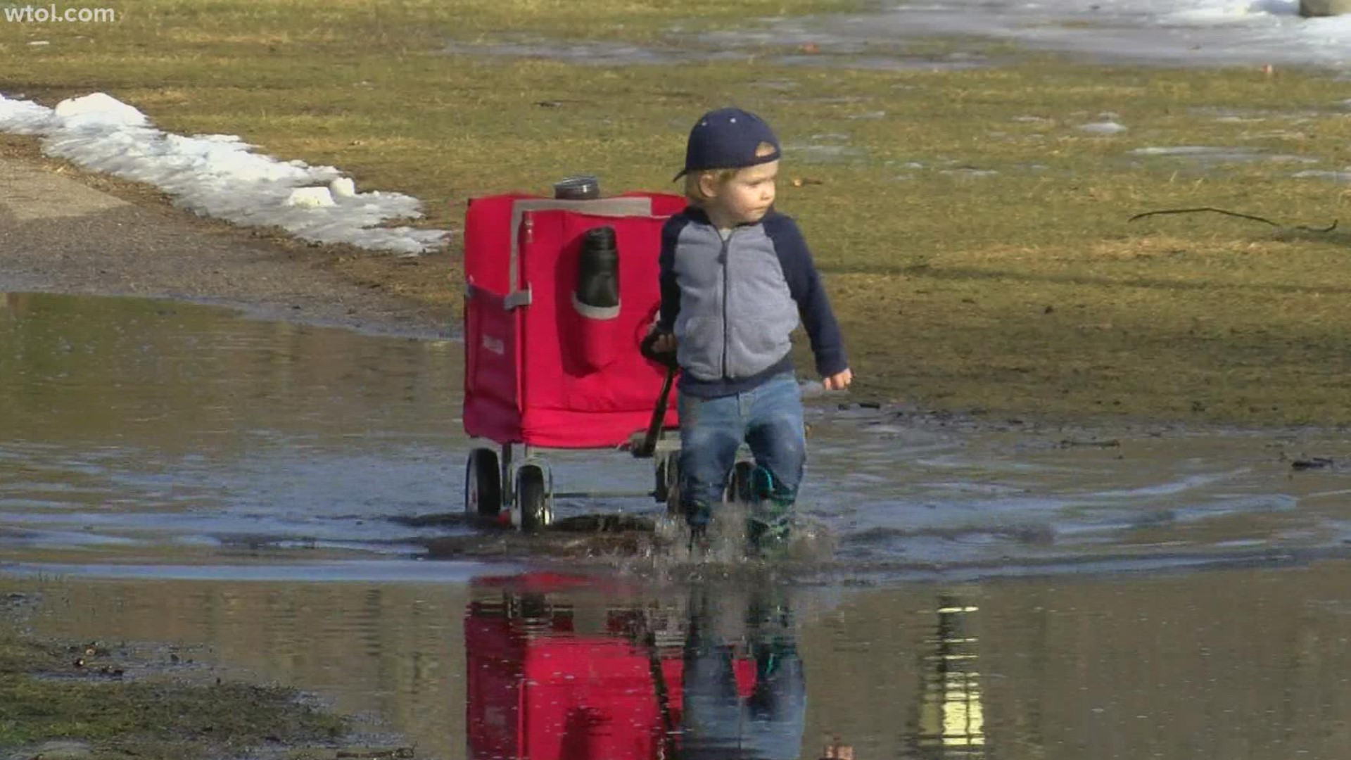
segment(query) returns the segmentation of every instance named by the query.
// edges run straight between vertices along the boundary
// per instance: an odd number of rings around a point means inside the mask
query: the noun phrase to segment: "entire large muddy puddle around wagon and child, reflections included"
[[[1351,738],[1340,431],[816,395],[801,508],[824,538],[709,564],[461,518],[457,342],[3,303],[0,573],[42,591],[39,634],[172,642],[176,667],[315,690],[426,757],[505,752],[523,687],[573,742],[535,759],[667,736],[762,757],[828,734],[863,757],[1333,757]],[[626,453],[550,460],[559,490],[650,480]]]

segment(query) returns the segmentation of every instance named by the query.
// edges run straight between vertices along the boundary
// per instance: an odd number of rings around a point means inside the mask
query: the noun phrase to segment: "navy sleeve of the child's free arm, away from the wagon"
[[[821,277],[812,262],[812,253],[802,239],[802,233],[793,219],[775,214],[765,220],[765,231],[774,242],[788,289],[797,302],[797,314],[812,341],[812,354],[816,357],[816,372],[830,377],[848,369],[844,356],[844,338],[831,310],[831,302],[821,287]]]

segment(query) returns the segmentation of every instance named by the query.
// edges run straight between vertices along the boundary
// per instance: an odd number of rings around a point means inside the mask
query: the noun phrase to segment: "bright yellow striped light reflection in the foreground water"
[[[942,596],[938,637],[924,655],[920,673],[919,729],[915,733],[927,757],[984,757],[985,707],[977,668],[977,638],[967,634],[969,617],[979,607]]]

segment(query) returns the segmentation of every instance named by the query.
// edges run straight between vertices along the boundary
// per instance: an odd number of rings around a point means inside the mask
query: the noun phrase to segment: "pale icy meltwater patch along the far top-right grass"
[[[1165,66],[1351,66],[1351,22],[1301,19],[1297,0],[938,0],[881,12],[766,19],[758,30],[696,32],[676,23],[665,46],[507,38],[443,51],[539,57],[596,65],[670,65],[754,57],[782,65],[880,70],[963,70],[1001,65],[990,45],[1062,51],[1090,62]],[[912,53],[913,41],[955,50]]]

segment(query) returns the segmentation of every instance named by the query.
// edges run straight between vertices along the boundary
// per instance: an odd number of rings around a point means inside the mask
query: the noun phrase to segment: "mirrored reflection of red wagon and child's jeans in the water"
[[[616,602],[588,625],[571,583],[476,581],[465,619],[473,760],[800,756],[807,683],[782,588],[738,607],[708,587],[677,603]]]

